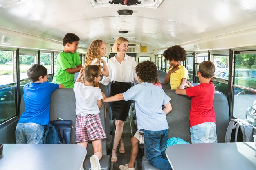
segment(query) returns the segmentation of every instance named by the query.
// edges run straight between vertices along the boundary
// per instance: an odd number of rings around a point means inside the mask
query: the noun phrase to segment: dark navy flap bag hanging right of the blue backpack
[[[57,120],[51,120],[50,124],[56,127],[60,142],[63,144],[70,144],[71,138],[71,120],[63,120],[57,118]]]

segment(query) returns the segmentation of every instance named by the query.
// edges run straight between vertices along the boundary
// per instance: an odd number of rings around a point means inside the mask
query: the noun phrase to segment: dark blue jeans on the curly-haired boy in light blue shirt
[[[160,170],[171,170],[165,155],[168,129],[162,131],[144,131],[146,153],[151,165]]]

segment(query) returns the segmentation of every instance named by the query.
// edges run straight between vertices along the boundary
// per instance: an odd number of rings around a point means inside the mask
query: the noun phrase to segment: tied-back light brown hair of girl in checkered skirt
[[[100,69],[97,65],[87,65],[83,70],[83,79],[84,81],[92,82],[92,85],[95,86],[95,77],[101,74]]]

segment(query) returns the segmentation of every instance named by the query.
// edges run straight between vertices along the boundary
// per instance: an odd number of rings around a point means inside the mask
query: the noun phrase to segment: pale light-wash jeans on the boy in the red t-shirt
[[[201,123],[190,128],[192,144],[217,143],[216,125],[214,122]]]

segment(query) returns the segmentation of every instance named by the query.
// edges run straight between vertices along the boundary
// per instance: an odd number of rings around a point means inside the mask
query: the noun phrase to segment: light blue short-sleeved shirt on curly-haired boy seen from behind
[[[162,106],[171,98],[161,87],[143,82],[128,89],[123,96],[126,101],[135,101],[139,130],[162,131],[169,128]]]

